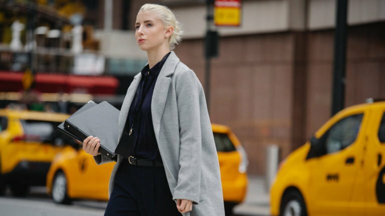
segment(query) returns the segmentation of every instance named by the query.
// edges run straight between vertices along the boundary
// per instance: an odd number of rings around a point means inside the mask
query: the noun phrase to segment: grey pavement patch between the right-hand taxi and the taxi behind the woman
[[[245,216],[268,216],[270,212],[269,198],[269,193],[265,189],[265,178],[249,175],[246,199],[234,208],[234,213]]]

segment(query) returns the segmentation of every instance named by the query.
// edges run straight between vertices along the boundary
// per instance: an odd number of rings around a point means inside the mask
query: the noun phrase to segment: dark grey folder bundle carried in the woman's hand
[[[90,135],[100,138],[99,152],[111,160],[116,160],[119,112],[117,108],[103,101],[71,115],[64,121],[64,128],[81,141]]]

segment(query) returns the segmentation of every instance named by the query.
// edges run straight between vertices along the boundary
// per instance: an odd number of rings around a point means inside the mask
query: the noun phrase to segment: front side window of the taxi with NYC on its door
[[[345,117],[335,123],[325,134],[326,153],[333,153],[352,144],[357,138],[363,114]]]

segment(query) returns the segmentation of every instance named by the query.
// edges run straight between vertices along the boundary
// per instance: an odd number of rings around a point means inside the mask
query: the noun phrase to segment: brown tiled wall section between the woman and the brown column
[[[185,40],[180,59],[205,85],[203,44]],[[290,151],[293,36],[290,33],[223,37],[212,62],[211,120],[233,128],[245,146],[252,173],[264,173],[268,144]]]

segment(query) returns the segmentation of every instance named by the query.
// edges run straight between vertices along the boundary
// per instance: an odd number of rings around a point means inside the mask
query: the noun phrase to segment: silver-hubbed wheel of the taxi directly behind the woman
[[[54,181],[52,183],[52,198],[56,203],[71,204],[71,199],[68,196],[67,191],[67,178],[62,171],[55,174]]]

